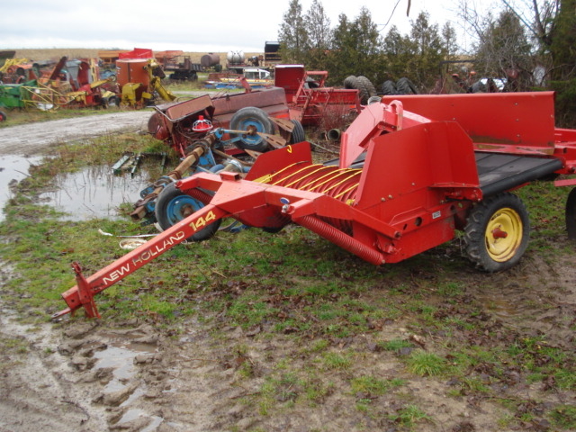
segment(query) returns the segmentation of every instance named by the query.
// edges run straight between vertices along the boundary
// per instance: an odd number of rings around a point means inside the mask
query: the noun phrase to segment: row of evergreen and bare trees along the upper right
[[[500,0],[481,12],[460,0],[459,19],[474,40],[464,52],[453,24],[441,27],[426,12],[408,34],[392,26],[381,34],[370,11],[334,26],[320,0],[308,11],[290,0],[278,32],[284,63],[328,70],[329,85],[366,76],[382,89],[408,77],[419,93],[555,90],[558,123],[576,126],[576,0]],[[482,79],[481,81],[481,78]],[[483,87],[482,87],[483,85]]]

